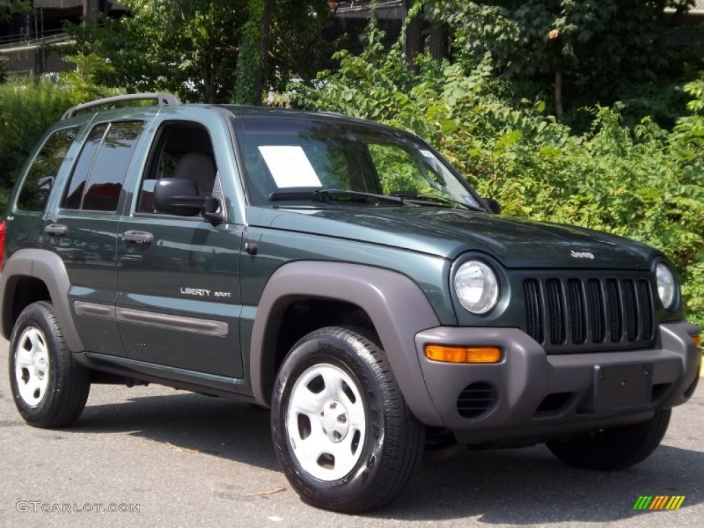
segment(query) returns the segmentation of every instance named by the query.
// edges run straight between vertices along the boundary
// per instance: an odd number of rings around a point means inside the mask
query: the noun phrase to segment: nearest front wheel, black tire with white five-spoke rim
[[[415,472],[424,430],[384,351],[326,327],[291,348],[272,396],[274,447],[303,501],[345,513],[391,502]]]

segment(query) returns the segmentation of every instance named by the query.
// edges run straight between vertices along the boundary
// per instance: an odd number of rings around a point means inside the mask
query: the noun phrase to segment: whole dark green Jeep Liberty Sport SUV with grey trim
[[[98,111],[132,99],[156,104]],[[71,108],[2,231],[27,423],[72,424],[101,382],[255,403],[291,485],[330,510],[389,503],[426,444],[629,467],[698,381],[662,253],[504,218],[413,134],[341,115]]]

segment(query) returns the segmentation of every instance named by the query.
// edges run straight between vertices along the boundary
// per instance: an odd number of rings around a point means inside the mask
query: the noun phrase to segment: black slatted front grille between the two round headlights
[[[527,278],[526,332],[548,352],[646,347],[655,322],[646,278]]]

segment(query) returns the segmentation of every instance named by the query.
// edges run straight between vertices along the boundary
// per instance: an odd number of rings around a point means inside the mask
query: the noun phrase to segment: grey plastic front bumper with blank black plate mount
[[[548,355],[520,329],[437,327],[416,334],[415,346],[443,426],[464,443],[483,443],[615,427],[684,403],[698,380],[698,332],[667,323],[655,348]],[[426,344],[500,346],[503,359],[439,363],[425,357]]]

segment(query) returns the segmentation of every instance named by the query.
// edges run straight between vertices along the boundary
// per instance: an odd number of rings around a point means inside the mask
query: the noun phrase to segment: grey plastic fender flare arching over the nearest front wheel
[[[440,325],[425,294],[401,273],[365,265],[298,261],[267,282],[252,328],[249,375],[258,403],[268,406],[275,379],[275,350],[284,311],[292,301],[326,298],[359,306],[375,325],[408,408],[425,424],[441,424],[415,348],[415,334]]]

